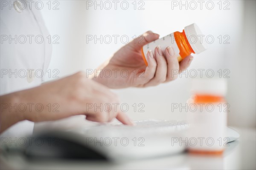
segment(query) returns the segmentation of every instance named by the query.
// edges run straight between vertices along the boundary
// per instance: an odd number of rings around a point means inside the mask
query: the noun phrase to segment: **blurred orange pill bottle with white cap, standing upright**
[[[195,154],[220,155],[227,146],[228,104],[224,96],[227,84],[224,79],[195,80],[193,98],[188,102],[188,150]]]

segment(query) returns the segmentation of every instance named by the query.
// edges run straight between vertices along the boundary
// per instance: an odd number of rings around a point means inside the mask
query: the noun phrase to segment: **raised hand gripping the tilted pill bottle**
[[[137,37],[119,49],[109,61],[97,69],[97,72],[101,74],[93,79],[110,88],[156,86],[175,80],[178,76],[177,70],[182,72],[186,69],[193,57],[188,56],[179,63],[172,47],[167,47],[163,54],[158,46],[154,52],[146,54],[148,66],[145,66],[140,49],[158,38],[159,35],[151,31]]]

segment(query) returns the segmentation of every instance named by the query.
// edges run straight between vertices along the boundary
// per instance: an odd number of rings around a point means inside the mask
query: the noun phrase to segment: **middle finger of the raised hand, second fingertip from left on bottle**
[[[155,58],[157,61],[157,69],[154,78],[152,78],[145,86],[156,86],[166,81],[167,76],[167,62],[163,55],[160,46],[154,50]]]

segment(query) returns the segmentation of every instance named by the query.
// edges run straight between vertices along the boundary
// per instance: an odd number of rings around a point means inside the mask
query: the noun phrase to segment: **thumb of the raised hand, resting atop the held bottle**
[[[127,45],[130,46],[132,49],[140,50],[141,47],[143,47],[145,44],[157,40],[158,38],[159,34],[147,31],[143,35],[140,35],[139,37],[129,42]]]

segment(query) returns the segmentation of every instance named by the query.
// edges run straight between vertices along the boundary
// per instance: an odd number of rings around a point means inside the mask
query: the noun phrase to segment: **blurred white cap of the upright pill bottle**
[[[194,79],[192,81],[192,93],[224,97],[227,93],[227,80],[224,78]]]

